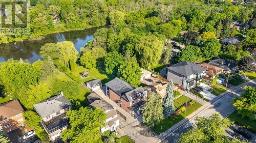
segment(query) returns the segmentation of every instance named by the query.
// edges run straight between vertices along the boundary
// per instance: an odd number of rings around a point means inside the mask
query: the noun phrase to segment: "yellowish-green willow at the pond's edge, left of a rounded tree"
[[[63,41],[57,43],[57,48],[59,49],[59,60],[65,64],[66,66],[69,66],[70,60],[77,60],[78,52],[74,47],[74,44],[70,41]]]

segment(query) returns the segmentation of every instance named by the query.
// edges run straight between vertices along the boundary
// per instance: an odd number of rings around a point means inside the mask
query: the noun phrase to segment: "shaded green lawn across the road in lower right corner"
[[[247,118],[242,118],[241,115],[238,114],[238,111],[234,111],[233,113],[231,113],[228,118],[231,121],[234,121],[234,123],[256,133],[256,121],[250,121]]]

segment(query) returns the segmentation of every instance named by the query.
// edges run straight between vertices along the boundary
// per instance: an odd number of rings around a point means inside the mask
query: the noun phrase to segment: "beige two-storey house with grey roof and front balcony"
[[[55,140],[63,130],[67,129],[66,111],[71,109],[71,103],[63,96],[62,92],[57,96],[34,104],[34,107],[42,118],[41,124],[50,140]]]

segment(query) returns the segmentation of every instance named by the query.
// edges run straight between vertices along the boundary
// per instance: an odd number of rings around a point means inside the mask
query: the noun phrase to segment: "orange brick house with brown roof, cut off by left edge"
[[[8,133],[24,126],[23,111],[17,99],[0,104],[0,130]]]

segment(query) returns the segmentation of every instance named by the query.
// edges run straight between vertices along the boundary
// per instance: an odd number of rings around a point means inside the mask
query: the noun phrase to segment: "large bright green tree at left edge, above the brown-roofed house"
[[[9,94],[17,96],[23,88],[35,85],[40,71],[28,62],[9,59],[0,66],[0,78]]]

